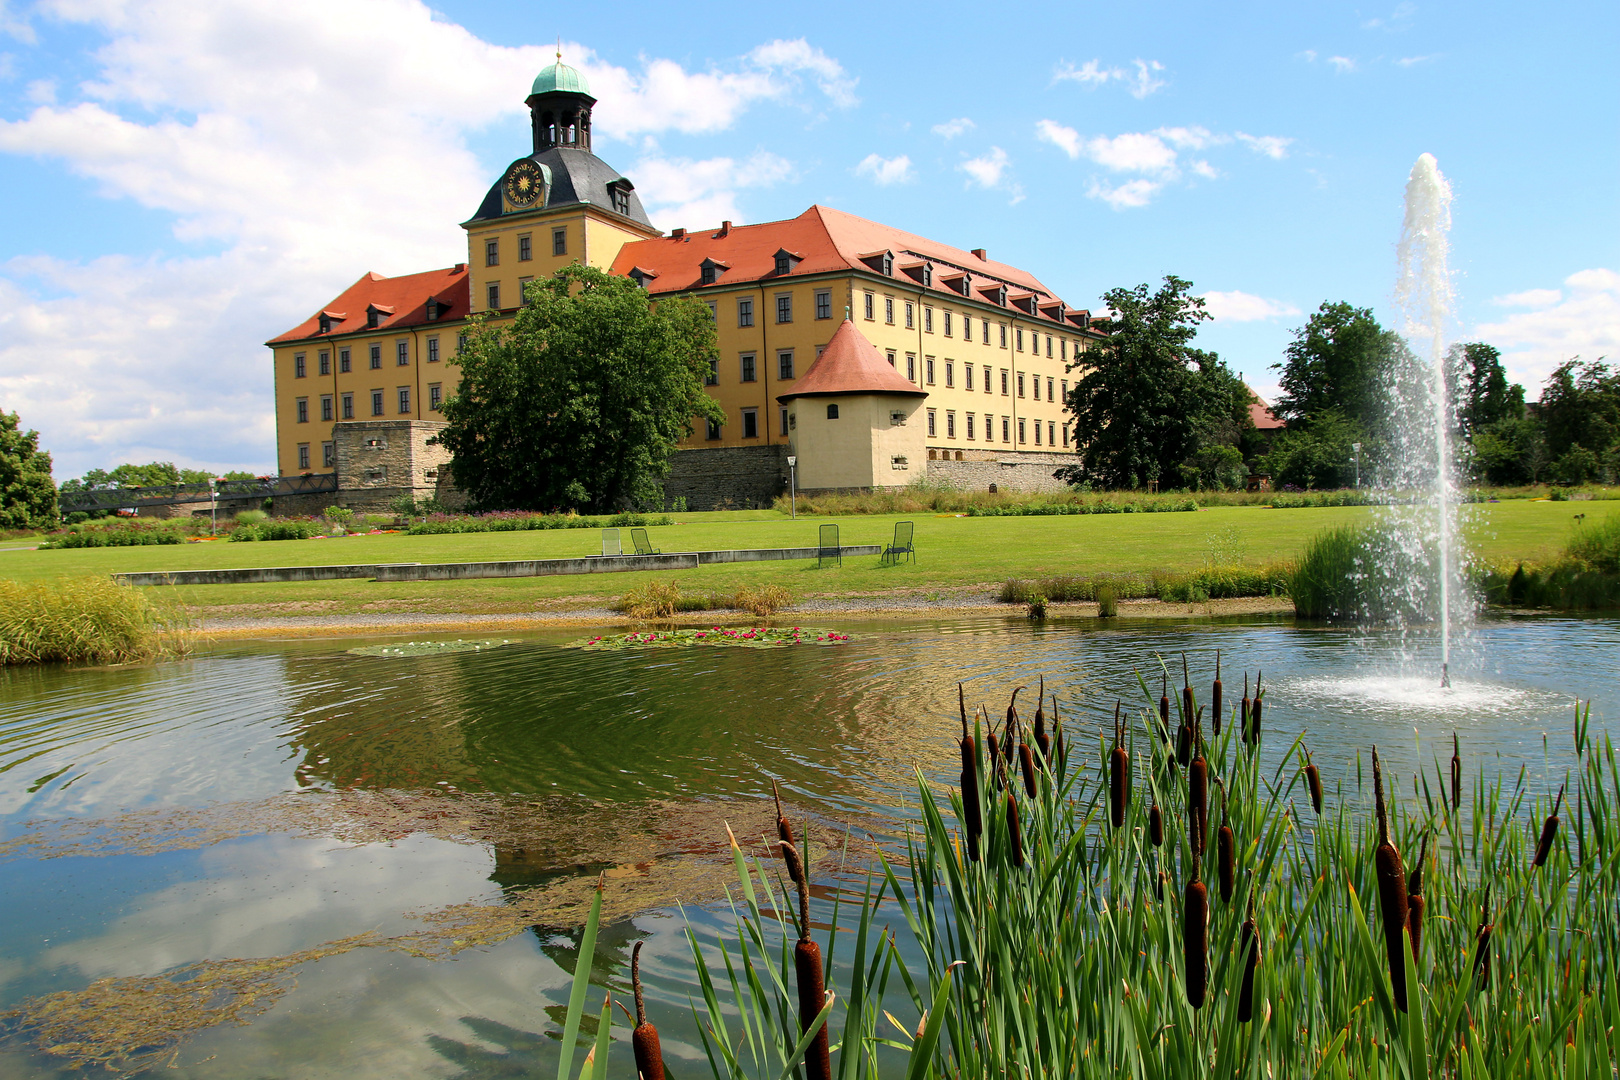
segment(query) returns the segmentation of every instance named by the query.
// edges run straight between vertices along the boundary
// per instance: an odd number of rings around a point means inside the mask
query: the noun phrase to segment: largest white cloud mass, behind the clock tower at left
[[[40,429],[58,478],[126,458],[269,468],[262,342],[366,270],[467,259],[457,222],[494,181],[468,136],[522,115],[552,47],[489,44],[420,0],[97,0],[53,16],[107,39],[99,70],[0,121],[0,152],[60,160],[209,254],[0,266],[0,398]],[[0,6],[0,32],[18,36],[13,23]],[[854,100],[854,79],[804,40],[706,71],[562,50],[599,99],[598,141],[719,131],[807,94]],[[642,152],[638,191],[676,223],[742,220],[739,191],[792,172],[765,152]]]

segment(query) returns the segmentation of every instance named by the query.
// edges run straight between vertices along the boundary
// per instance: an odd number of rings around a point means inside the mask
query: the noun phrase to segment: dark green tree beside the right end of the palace
[[[1174,275],[1103,295],[1108,337],[1071,364],[1085,372],[1069,390],[1069,424],[1081,463],[1058,471],[1069,483],[1139,487],[1150,481],[1223,486],[1241,471],[1231,452],[1249,423],[1247,389],[1215,353],[1192,348],[1209,319],[1192,282]]]

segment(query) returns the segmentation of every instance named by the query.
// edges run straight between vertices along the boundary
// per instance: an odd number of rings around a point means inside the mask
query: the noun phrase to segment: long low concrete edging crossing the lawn
[[[846,544],[844,555],[881,555],[880,544]],[[504,562],[386,562],[337,567],[253,567],[238,570],[159,570],[115,573],[122,585],[249,585],[280,581],[462,581],[467,578],[544,578],[564,573],[624,573],[632,570],[692,570],[727,562],[776,562],[815,559],[818,547],[745,547],[737,551],[693,551],[659,555],[585,555],[578,559],[523,559]]]

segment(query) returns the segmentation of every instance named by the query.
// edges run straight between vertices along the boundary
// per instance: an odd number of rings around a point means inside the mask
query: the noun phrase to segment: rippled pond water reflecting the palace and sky
[[[1137,672],[1157,696],[1157,656],[1179,677],[1186,653],[1202,698],[1220,649],[1228,699],[1265,672],[1264,753],[1280,763],[1304,732],[1330,787],[1354,784],[1372,743],[1396,772],[1432,769],[1453,730],[1469,771],[1524,766],[1544,787],[1571,761],[1575,698],[1607,727],[1620,669],[1617,620],[1487,622],[1445,695],[1434,657],[1403,669],[1393,641],[1291,619],[838,628],[849,643],[593,653],[554,635],[360,656],[376,641],[298,641],[6,672],[0,1009],[37,1017],[45,994],[126,980],[63,999],[109,1033],[81,1056],[115,1054],[118,1025],[190,1023],[178,1046],[115,1061],[183,1077],[554,1075],[572,926],[604,873],[595,978],[622,988],[646,941],[671,1069],[706,1075],[684,934],[723,926],[726,823],[745,844],[773,829],[776,779],[810,821],[826,904],[852,881],[846,832],[859,858],[906,821],[915,769],[954,782],[957,680],[1001,712],[1045,677],[1089,746],[1116,698],[1144,706]],[[164,973],[178,975],[147,978]],[[8,1023],[0,1077],[70,1070]],[[616,1061],[617,1075],[627,1044]]]

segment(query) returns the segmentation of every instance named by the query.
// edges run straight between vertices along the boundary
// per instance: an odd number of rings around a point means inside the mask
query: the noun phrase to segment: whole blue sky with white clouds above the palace
[[[58,478],[267,468],[262,342],[465,257],[556,39],[658,225],[812,202],[1076,306],[1191,279],[1262,393],[1322,301],[1390,293],[1406,173],[1455,189],[1453,334],[1529,397],[1620,356],[1614,3],[551,5],[0,0],[0,408]]]

